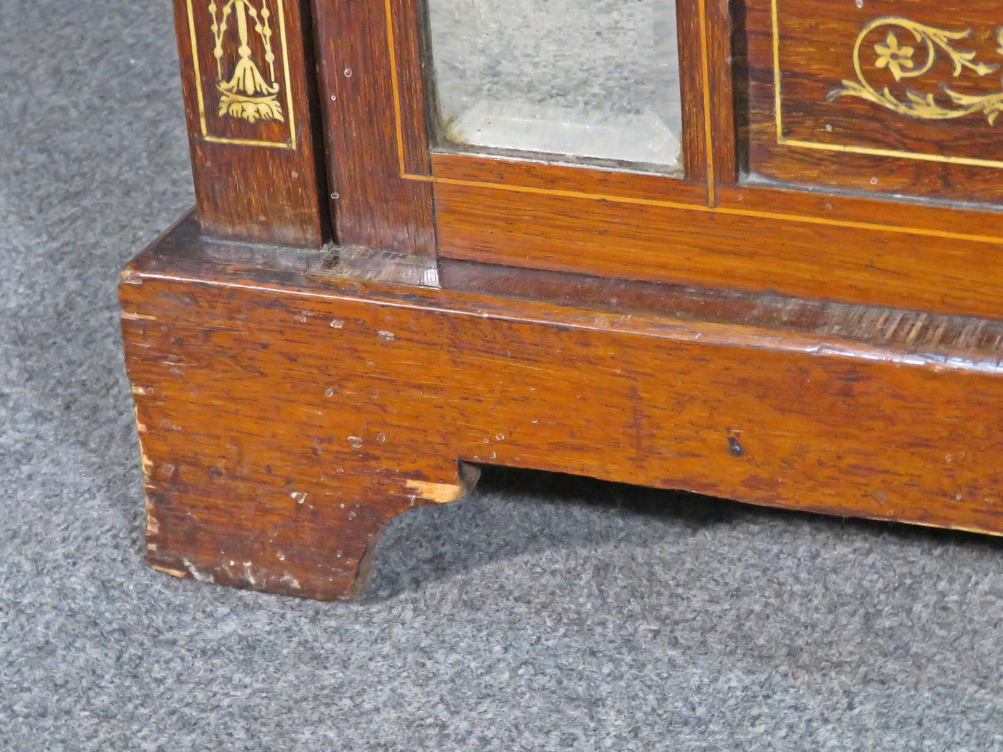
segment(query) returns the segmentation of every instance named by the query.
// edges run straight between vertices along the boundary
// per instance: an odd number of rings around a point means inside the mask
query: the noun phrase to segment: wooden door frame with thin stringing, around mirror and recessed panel
[[[423,2],[313,0],[339,244],[944,313],[1003,307],[999,213],[738,179],[743,0],[679,1],[683,179],[436,149]]]

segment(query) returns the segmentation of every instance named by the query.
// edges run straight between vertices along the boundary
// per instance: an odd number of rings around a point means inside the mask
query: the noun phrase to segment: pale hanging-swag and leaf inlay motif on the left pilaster
[[[221,9],[216,0],[210,0],[213,37],[216,46],[217,88],[220,91],[220,117],[237,117],[255,122],[257,120],[278,120],[285,122],[282,104],[277,95],[281,88],[275,79],[275,52],[272,50],[272,12],[268,0],[262,0],[261,8],[252,0],[228,0]],[[231,31],[231,21],[236,21],[240,45],[239,58],[230,78],[224,77],[224,41]],[[252,52],[251,30],[261,40],[265,62],[268,64],[269,79],[265,80]]]

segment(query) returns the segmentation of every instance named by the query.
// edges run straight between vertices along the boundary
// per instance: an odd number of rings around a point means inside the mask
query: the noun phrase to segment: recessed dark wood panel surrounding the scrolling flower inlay
[[[943,86],[965,95],[1001,92],[997,29],[1003,23],[996,0],[868,0],[866,3],[776,0],[782,116],[781,139],[776,126],[772,0],[744,3],[741,43],[736,45],[742,108],[747,130],[740,136],[750,173],[787,182],[830,185],[861,192],[902,194],[955,202],[1003,202],[1000,165],[948,163],[933,159],[1003,161],[1003,136],[985,113],[955,119],[928,119],[893,111],[854,96],[830,99],[844,80],[857,81],[854,48],[860,32],[879,18],[905,18],[948,32],[970,32],[951,41],[959,52],[976,52],[978,62],[997,66],[980,75],[959,68],[936,48],[937,61],[916,78],[897,81],[886,64],[879,67],[876,45],[894,34],[909,51],[910,71],[928,59],[925,43],[908,29],[889,22],[862,44],[861,62],[880,91],[909,101],[909,92],[934,97],[939,106],[955,108]],[[813,144],[805,146],[804,143]],[[824,147],[824,148],[819,148]],[[830,150],[834,149],[834,150]],[[879,149],[902,152],[863,153]],[[997,220],[998,222],[998,220]]]

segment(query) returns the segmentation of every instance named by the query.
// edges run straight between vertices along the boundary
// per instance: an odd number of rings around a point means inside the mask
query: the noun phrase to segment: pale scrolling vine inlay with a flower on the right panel
[[[898,27],[911,33],[917,44],[923,45],[924,52],[921,55],[925,54],[925,58],[917,61],[916,48],[900,42],[899,34],[890,27]],[[955,78],[965,70],[985,76],[1000,67],[997,64],[979,62],[976,60],[976,52],[955,48],[955,42],[971,36],[971,29],[945,31],[908,18],[886,16],[871,21],[861,30],[854,45],[854,69],[857,71],[857,80],[844,79],[843,88],[828,95],[829,101],[841,96],[858,96],[901,114],[924,120],[950,120],[981,112],[985,114],[990,125],[994,124],[1003,113],[1003,91],[985,95],[963,94],[952,89],[945,81],[940,81],[940,88],[951,100],[950,105],[947,105],[946,102],[938,101],[933,93],[922,94],[907,89],[903,100],[893,94],[888,86],[879,90],[868,80],[861,61],[861,50],[866,40],[874,39],[872,34],[878,29],[888,29],[888,31],[873,46],[877,54],[874,67],[887,70],[897,82],[927,75],[940,57],[946,57],[952,62],[954,66],[952,75]],[[996,39],[999,44],[996,51],[1003,55],[1003,28],[997,31]]]

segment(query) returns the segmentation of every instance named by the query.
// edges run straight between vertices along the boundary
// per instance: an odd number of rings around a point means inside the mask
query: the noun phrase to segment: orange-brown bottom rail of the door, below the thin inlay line
[[[447,258],[941,313],[1003,306],[995,242],[503,186],[438,183],[435,209]]]

